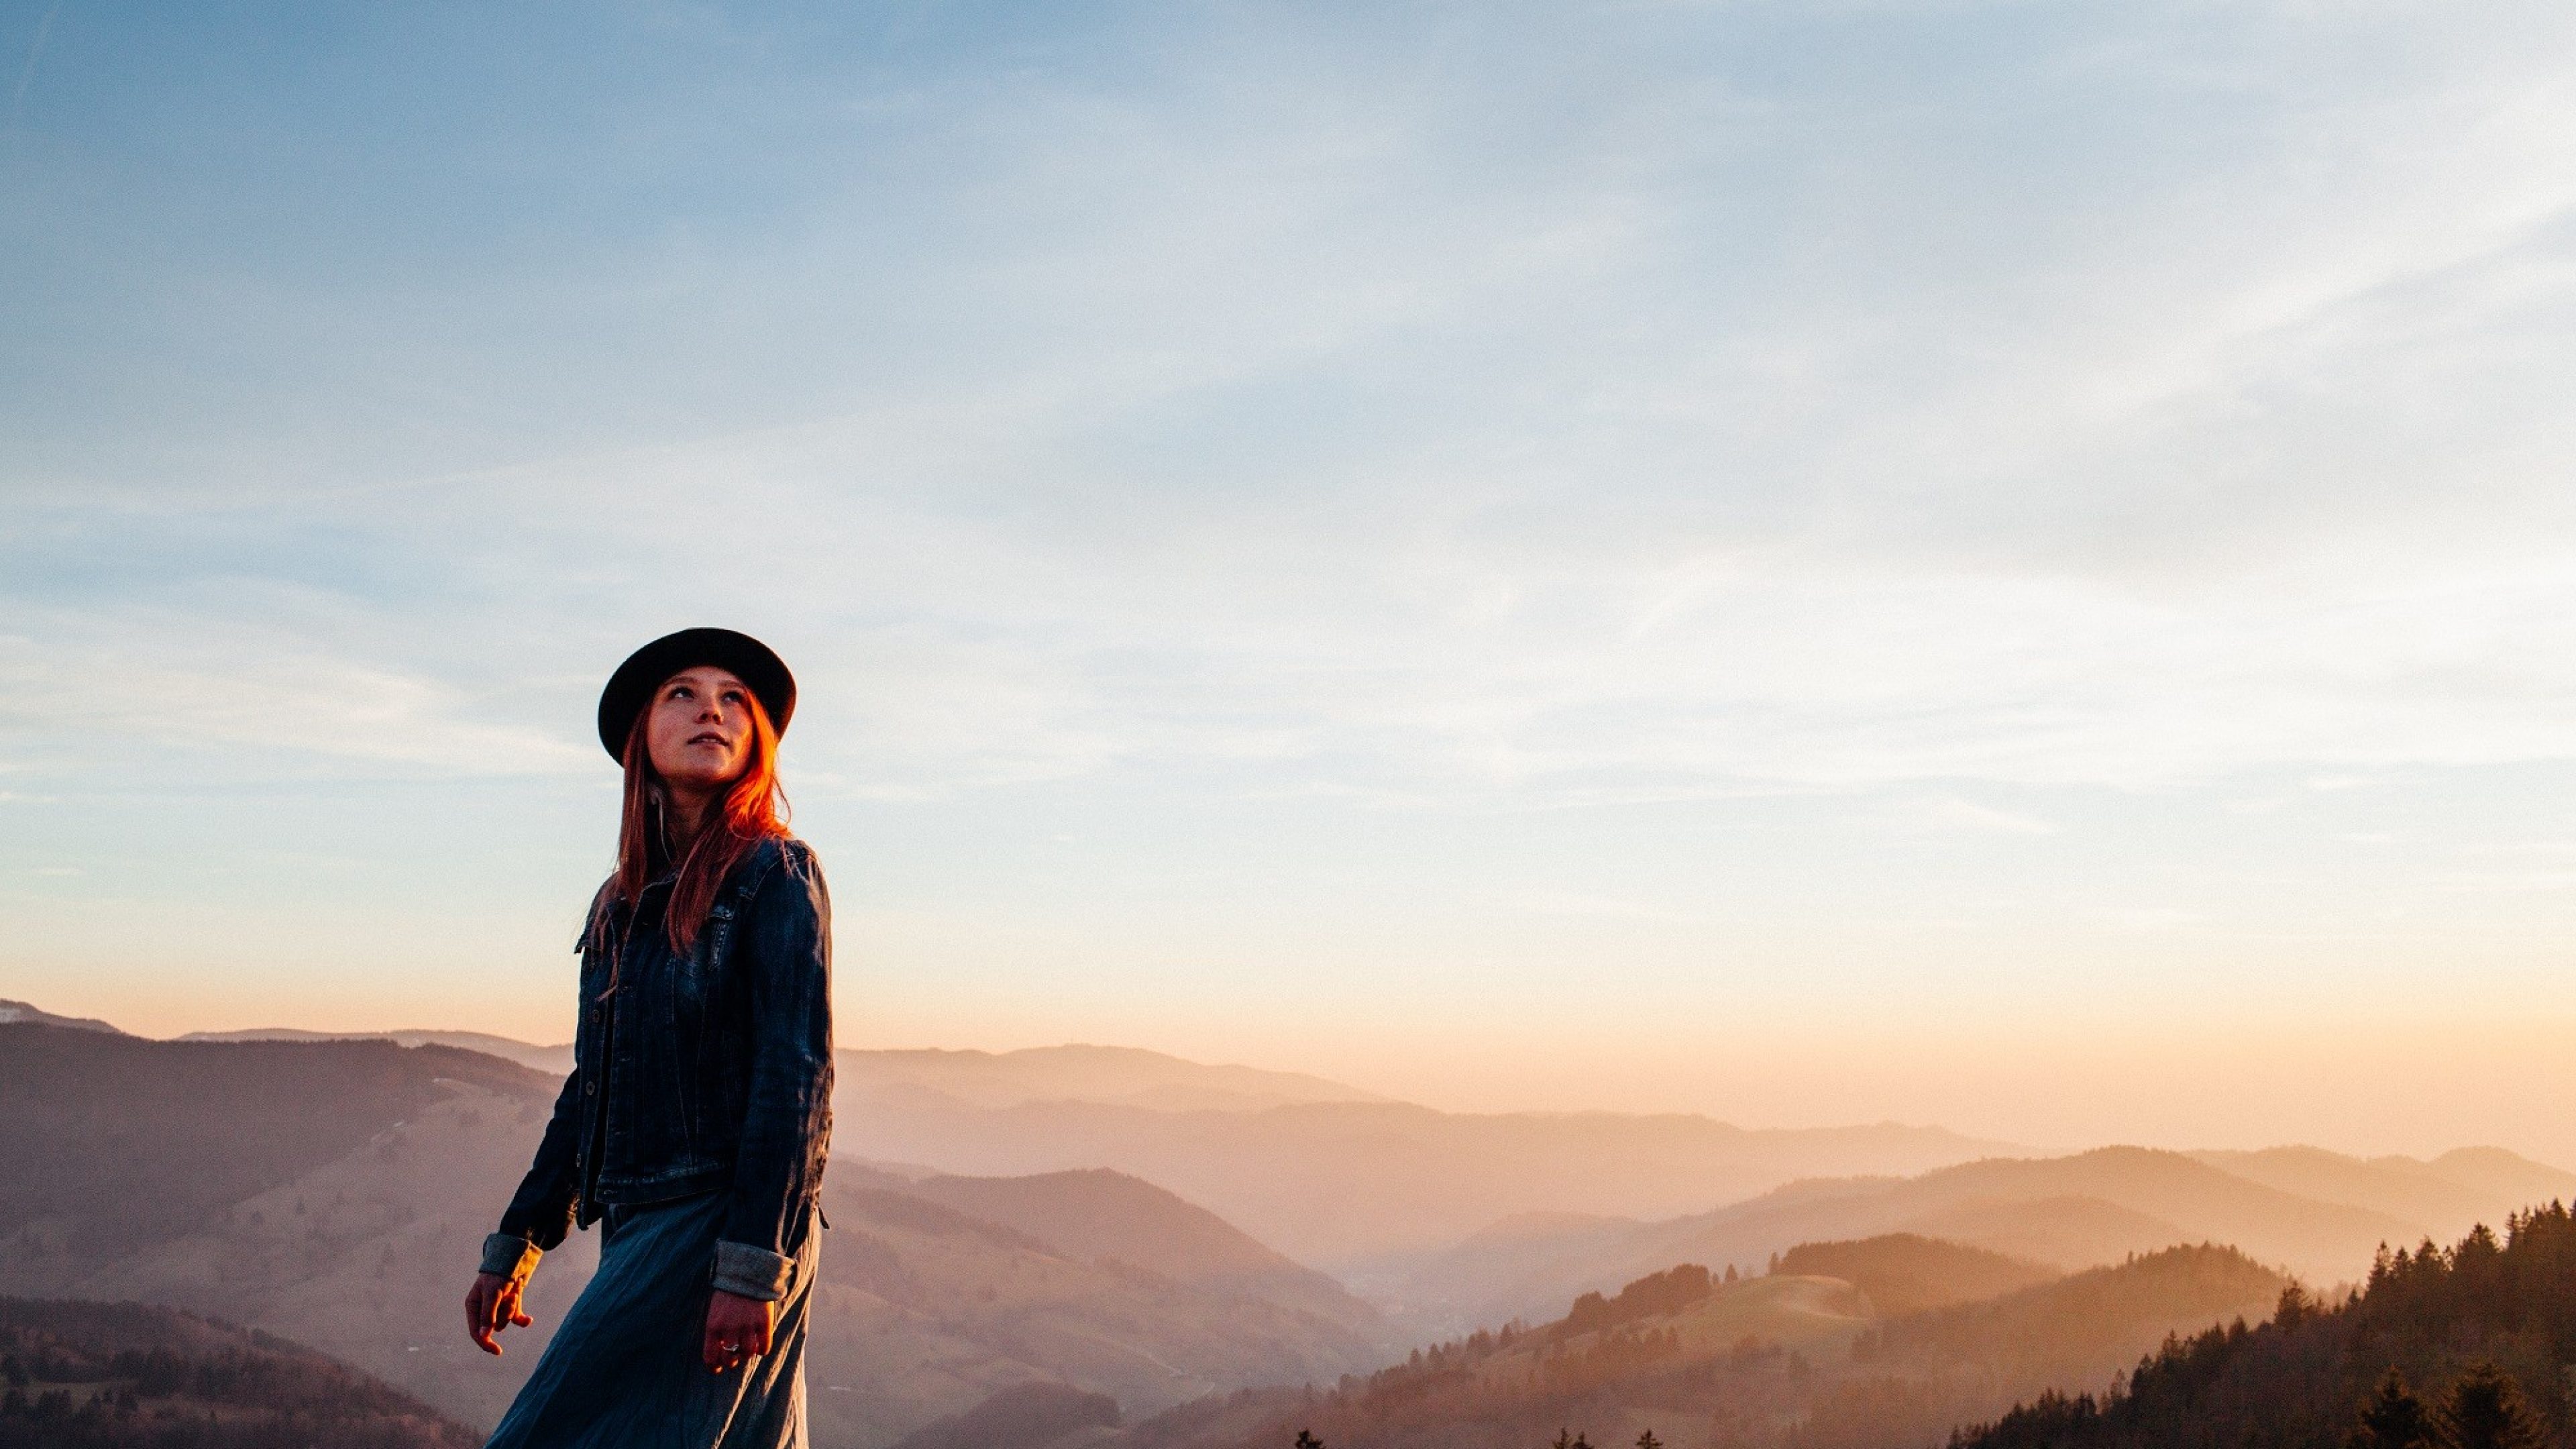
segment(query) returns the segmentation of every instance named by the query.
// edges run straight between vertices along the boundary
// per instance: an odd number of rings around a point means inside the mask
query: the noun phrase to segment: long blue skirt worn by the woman
[[[572,1302],[487,1449],[804,1449],[804,1330],[819,1232],[806,1222],[770,1351],[706,1366],[726,1194],[613,1207],[600,1271]]]

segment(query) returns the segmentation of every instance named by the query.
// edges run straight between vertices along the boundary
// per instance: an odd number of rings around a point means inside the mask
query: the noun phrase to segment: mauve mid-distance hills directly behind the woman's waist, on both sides
[[[456,1047],[0,1026],[0,1292],[224,1315],[492,1423],[595,1266],[574,1235],[538,1269],[538,1328],[502,1359],[466,1343],[456,1305],[551,1098],[544,1073]],[[1118,1173],[835,1163],[824,1204],[809,1377],[827,1444],[889,1444],[1023,1382],[1151,1413],[1334,1379],[1394,1343],[1332,1279]]]

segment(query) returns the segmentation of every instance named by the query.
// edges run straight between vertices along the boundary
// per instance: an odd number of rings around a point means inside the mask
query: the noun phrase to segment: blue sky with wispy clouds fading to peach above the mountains
[[[2576,1165],[2576,10],[0,0],[0,995]]]

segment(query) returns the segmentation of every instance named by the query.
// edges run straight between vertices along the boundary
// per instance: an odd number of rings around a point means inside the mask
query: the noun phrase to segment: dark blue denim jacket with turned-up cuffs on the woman
[[[672,877],[582,928],[572,1075],[484,1271],[523,1276],[608,1207],[726,1191],[714,1284],[781,1299],[832,1137],[832,902],[804,841],[762,841],[685,957]]]

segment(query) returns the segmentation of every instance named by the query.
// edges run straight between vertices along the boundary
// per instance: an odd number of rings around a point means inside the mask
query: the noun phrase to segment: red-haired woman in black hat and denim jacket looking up
[[[832,1132],[832,905],[786,833],[796,678],[732,629],[644,645],[600,694],[618,869],[582,926],[572,1075],[466,1330],[487,1354],[574,1225],[600,1271],[492,1446],[804,1446],[804,1328]]]

